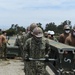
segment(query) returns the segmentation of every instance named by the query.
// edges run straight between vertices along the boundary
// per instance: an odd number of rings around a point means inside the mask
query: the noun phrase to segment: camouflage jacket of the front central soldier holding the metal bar
[[[49,40],[42,37],[42,41],[37,43],[34,38],[26,40],[24,52],[32,58],[44,58],[50,52]]]

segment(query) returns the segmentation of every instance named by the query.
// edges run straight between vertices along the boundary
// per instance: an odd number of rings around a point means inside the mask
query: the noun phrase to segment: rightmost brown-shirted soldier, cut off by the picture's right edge
[[[73,27],[70,35],[66,38],[65,44],[75,47],[75,26]]]

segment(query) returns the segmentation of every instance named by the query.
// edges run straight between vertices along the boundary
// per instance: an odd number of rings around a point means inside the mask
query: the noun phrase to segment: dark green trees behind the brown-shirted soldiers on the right
[[[69,20],[65,20],[60,25],[55,25],[54,22],[51,22],[51,23],[46,24],[45,31],[53,30],[58,35],[58,34],[63,33],[64,25],[69,25],[70,27],[72,27],[71,21],[69,21]]]

